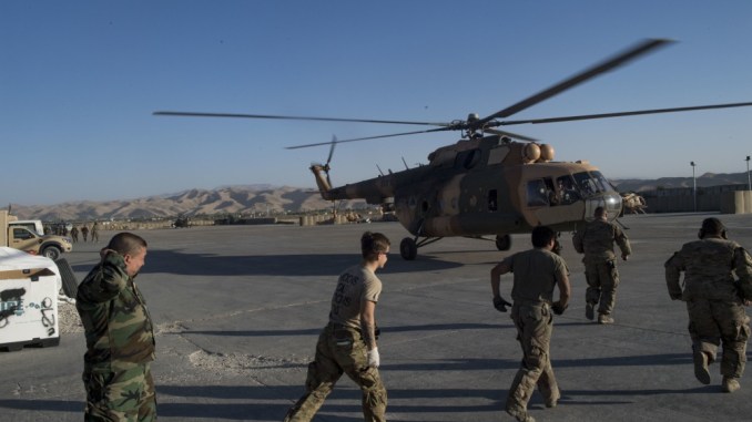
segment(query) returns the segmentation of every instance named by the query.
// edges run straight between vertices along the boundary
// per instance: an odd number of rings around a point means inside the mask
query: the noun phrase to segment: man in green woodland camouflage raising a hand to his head
[[[154,332],[146,302],[134,282],[144,265],[146,241],[120,233],[100,256],[100,264],[83,279],[75,298],[87,337],[84,421],[155,421],[150,370]]]

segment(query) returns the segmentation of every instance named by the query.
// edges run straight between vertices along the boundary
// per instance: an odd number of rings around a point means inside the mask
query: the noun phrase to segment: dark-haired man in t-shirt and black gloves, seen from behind
[[[506,312],[511,305],[499,295],[501,275],[514,272],[511,319],[517,327],[517,340],[522,347],[521,368],[509,388],[506,411],[518,421],[533,421],[527,406],[532,391],[543,394],[547,408],[557,405],[561,393],[553,375],[549,348],[553,317],[563,313],[570,297],[569,269],[560,256],[552,253],[556,233],[546,226],[532,230],[533,249],[505,258],[491,269],[494,307]],[[553,288],[559,300],[553,301]]]

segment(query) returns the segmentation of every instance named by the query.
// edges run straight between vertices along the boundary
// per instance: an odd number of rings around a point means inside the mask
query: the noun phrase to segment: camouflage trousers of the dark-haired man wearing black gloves
[[[522,347],[522,362],[509,388],[507,410],[527,410],[536,385],[546,402],[559,399],[559,387],[549,357],[553,318],[547,303],[515,305],[511,319]]]

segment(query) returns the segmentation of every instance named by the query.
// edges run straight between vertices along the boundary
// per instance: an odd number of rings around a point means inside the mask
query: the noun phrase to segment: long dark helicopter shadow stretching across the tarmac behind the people
[[[393,255],[394,256],[394,255]],[[292,254],[224,256],[187,254],[175,250],[150,250],[141,274],[174,274],[183,276],[332,276],[360,261],[356,254]],[[382,274],[437,271],[461,267],[424,255],[413,261],[394,259]],[[73,266],[74,271],[87,272],[90,265]]]

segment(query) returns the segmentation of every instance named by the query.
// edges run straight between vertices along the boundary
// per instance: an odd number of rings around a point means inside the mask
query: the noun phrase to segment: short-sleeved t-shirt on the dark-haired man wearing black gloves
[[[569,276],[567,263],[546,249],[530,249],[507,257],[515,274],[511,298],[516,302],[553,302],[553,289]]]

